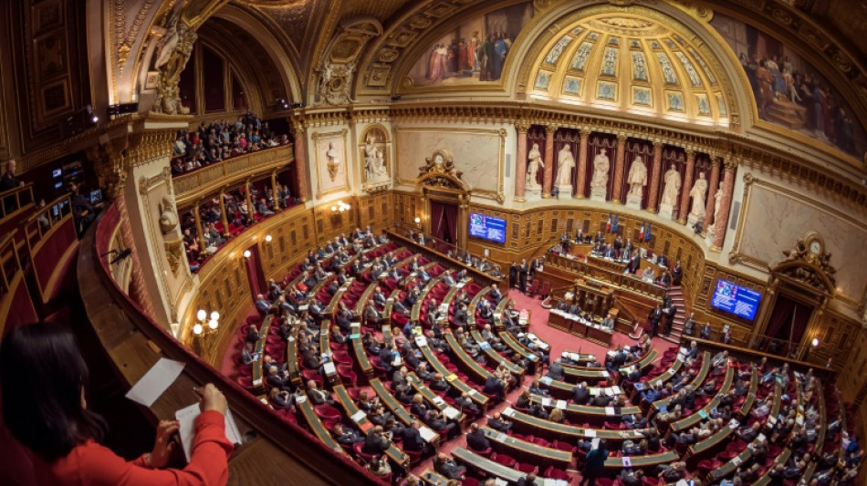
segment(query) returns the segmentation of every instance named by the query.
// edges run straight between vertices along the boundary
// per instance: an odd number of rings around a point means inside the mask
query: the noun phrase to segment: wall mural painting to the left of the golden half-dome
[[[532,17],[530,2],[475,16],[434,41],[408,76],[415,86],[498,81],[512,43]]]

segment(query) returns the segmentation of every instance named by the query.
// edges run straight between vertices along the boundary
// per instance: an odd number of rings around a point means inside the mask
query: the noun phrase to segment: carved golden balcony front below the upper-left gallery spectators
[[[202,169],[172,177],[175,199],[179,206],[198,197],[219,190],[225,185],[245,181],[246,178],[287,166],[295,160],[292,145],[259,150],[238,157],[215,162]]]

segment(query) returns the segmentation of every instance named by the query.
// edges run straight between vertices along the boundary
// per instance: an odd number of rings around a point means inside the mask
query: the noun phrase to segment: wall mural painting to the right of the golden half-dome
[[[728,16],[711,25],[747,73],[758,117],[860,157],[867,135],[840,92],[791,47]]]

